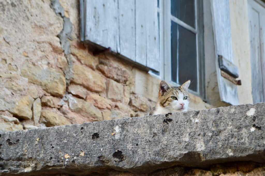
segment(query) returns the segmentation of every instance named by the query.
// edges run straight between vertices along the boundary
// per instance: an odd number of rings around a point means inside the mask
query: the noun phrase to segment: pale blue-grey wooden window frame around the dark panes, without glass
[[[171,79],[171,21],[196,33],[196,56],[197,56],[197,92],[188,90],[205,100],[205,64],[204,64],[204,29],[203,29],[203,2],[195,0],[195,28],[171,15],[171,1],[160,0],[157,12],[159,13],[159,45],[160,45],[160,74],[149,73],[161,80],[165,80],[173,86],[180,86]]]

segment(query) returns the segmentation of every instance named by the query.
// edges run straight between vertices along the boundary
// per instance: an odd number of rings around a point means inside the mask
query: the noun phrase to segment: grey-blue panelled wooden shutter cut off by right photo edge
[[[265,4],[265,3],[262,3]],[[265,101],[265,7],[248,1],[253,103]]]

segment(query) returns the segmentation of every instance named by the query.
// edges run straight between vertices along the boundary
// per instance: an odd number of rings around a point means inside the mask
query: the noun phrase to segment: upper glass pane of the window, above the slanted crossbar
[[[195,28],[195,0],[171,0],[171,15]]]

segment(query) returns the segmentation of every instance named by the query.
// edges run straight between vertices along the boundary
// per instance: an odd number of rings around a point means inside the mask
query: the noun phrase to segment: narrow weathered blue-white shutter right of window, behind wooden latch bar
[[[232,38],[230,26],[229,0],[212,0],[211,11],[213,19],[215,60],[217,81],[221,101],[238,105],[237,85],[221,75],[218,56],[233,63]]]

